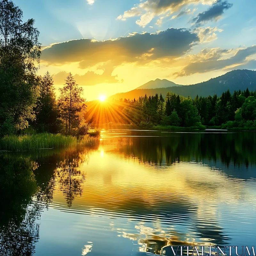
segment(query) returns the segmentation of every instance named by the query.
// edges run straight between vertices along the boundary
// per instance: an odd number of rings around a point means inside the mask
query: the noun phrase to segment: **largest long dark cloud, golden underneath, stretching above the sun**
[[[134,33],[115,40],[72,40],[54,44],[42,51],[41,60],[48,65],[78,62],[80,68],[100,63],[116,67],[122,63],[145,64],[151,60],[180,57],[199,41],[196,33],[187,29],[169,28],[156,34]]]

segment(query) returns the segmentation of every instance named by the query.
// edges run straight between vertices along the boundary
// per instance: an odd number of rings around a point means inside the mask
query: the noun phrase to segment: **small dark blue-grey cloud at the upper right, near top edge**
[[[197,26],[212,20],[218,20],[224,13],[224,10],[231,8],[233,4],[229,4],[228,1],[217,0],[212,6],[205,12],[201,12],[197,15],[193,22]]]

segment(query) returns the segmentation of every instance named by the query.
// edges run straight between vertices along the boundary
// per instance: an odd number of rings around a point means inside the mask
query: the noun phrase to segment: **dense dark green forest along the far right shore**
[[[165,99],[162,94],[145,95],[138,100],[124,99],[124,103],[125,115],[141,128],[256,130],[256,91],[250,92],[248,88],[233,95],[228,90],[220,97],[197,95],[195,99],[168,92]]]

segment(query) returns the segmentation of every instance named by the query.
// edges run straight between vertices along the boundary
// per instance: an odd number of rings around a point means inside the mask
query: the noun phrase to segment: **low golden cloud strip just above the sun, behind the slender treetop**
[[[64,84],[67,76],[68,76],[67,72],[61,71],[57,74],[54,74],[52,78],[55,84]],[[74,76],[76,83],[79,85],[96,85],[96,84],[102,84],[102,83],[113,84],[113,83],[120,82],[116,78],[117,76],[111,76],[111,74],[105,71],[103,72],[102,75],[95,74],[93,71],[88,71],[82,76],[78,74]]]

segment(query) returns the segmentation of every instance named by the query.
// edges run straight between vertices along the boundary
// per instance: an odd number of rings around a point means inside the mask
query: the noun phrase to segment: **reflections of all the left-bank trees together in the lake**
[[[0,155],[0,255],[30,256],[39,240],[41,212],[52,203],[56,178],[68,206],[82,193],[77,169],[82,149]]]

